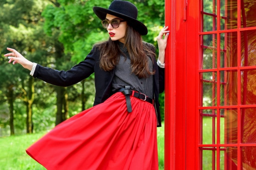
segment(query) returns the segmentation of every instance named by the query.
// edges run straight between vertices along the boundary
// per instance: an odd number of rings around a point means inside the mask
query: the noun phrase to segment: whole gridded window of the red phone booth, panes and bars
[[[248,156],[252,155],[250,149],[244,148],[251,146],[256,153],[256,137],[253,138],[256,121],[255,126],[250,122],[256,115],[256,83],[255,87],[252,85],[256,82],[256,17],[251,15],[256,3],[254,7],[248,3],[250,1],[241,1],[241,4],[232,0],[201,1],[200,169],[204,169],[207,151],[211,155],[208,169],[256,168]],[[212,141],[205,143],[207,132],[202,128],[208,124]],[[253,156],[256,159],[256,155]]]

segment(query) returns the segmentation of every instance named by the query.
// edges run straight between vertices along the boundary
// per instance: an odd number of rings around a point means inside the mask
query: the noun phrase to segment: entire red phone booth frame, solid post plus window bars
[[[237,1],[237,16],[241,16],[241,1]],[[243,2],[243,1],[242,1]],[[188,3],[188,4],[187,4]],[[205,109],[207,107],[199,107],[200,97],[198,97],[200,91],[199,85],[199,52],[200,52],[200,35],[215,34],[217,33],[218,49],[217,53],[220,54],[220,33],[230,32],[230,30],[220,30],[220,9],[217,9],[217,31],[200,32],[201,22],[199,20],[201,13],[200,1],[187,1],[187,0],[166,0],[165,1],[165,24],[169,26],[170,35],[168,39],[168,45],[166,49],[166,84],[165,84],[165,170],[179,170],[179,169],[198,169],[199,165],[199,147],[217,147],[217,160],[220,160],[220,147],[233,146],[232,144],[219,144],[220,137],[217,135],[217,145],[202,145],[200,143],[199,129],[202,129],[199,125],[199,112],[198,110]],[[220,1],[217,1],[217,6],[220,7]],[[225,10],[227,11],[227,10]],[[243,12],[243,11],[242,11]],[[244,15],[242,15],[244,16]],[[246,20],[243,18],[243,20]],[[214,22],[215,23],[215,22]],[[233,29],[232,32],[237,32],[238,37],[238,62],[241,59],[241,31],[256,30],[254,27],[241,27],[241,18],[237,19],[237,29]],[[246,36],[244,36],[246,38]],[[243,40],[247,43],[247,39]],[[244,45],[246,48],[247,44]],[[248,49],[246,49],[247,51]],[[248,55],[248,54],[245,54]],[[248,56],[247,56],[248,57]],[[218,64],[220,64],[218,62]],[[233,68],[221,68],[217,69],[217,77],[220,77],[220,70],[237,70],[237,82],[238,91],[241,90],[241,71],[247,71],[250,69],[255,70],[256,66],[240,66]],[[211,71],[211,69],[209,69]],[[206,71],[209,71],[206,70]],[[246,79],[244,77],[243,79]],[[220,84],[220,78],[217,80]],[[217,98],[219,102],[220,89],[219,84],[217,88]],[[247,84],[244,84],[245,88]],[[246,89],[243,89],[245,91]],[[246,93],[244,92],[246,95]],[[244,98],[245,96],[243,96]],[[247,109],[250,107],[255,108],[255,104],[246,104],[244,101],[240,101],[240,93],[237,94],[238,104],[231,108],[237,108],[238,123],[241,122],[241,109]],[[219,106],[219,104],[217,104]],[[217,107],[218,107],[217,106]],[[216,107],[209,107],[216,109]],[[220,108],[220,107],[219,107]],[[219,109],[218,108],[218,109]],[[221,108],[230,108],[228,106],[222,106]],[[217,134],[220,130],[220,113],[217,111]],[[242,111],[241,111],[242,112]],[[242,113],[244,115],[244,113]],[[243,124],[238,125],[238,143],[234,144],[238,148],[237,152],[237,168],[240,169],[243,165],[241,147],[255,147],[255,143],[242,143],[241,133],[243,133]],[[226,153],[225,153],[226,154]],[[249,154],[249,153],[248,153]],[[249,156],[249,155],[246,155]],[[215,157],[215,156],[214,156]],[[245,158],[246,159],[246,158]],[[220,169],[219,162],[217,161],[217,169]],[[213,164],[214,165],[214,164]],[[215,169],[215,168],[214,168]]]

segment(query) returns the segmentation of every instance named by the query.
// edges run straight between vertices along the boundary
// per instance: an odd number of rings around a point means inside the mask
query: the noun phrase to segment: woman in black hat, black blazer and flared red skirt
[[[108,9],[93,11],[110,38],[71,70],[42,67],[7,48],[9,63],[54,85],[69,86],[95,73],[94,107],[57,125],[26,151],[47,169],[158,169],[158,96],[164,90],[168,27],[157,38],[156,62],[154,46],[142,41],[147,28],[136,19],[135,5],[114,0]]]

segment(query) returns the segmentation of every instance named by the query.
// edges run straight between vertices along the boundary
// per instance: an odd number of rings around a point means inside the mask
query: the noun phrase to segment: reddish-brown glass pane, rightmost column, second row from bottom
[[[242,143],[256,143],[256,108],[241,109]],[[255,155],[256,158],[256,155]]]

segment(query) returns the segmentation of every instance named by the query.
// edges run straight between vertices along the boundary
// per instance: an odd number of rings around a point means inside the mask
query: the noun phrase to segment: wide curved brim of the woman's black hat
[[[112,11],[112,10],[102,8],[102,7],[95,6],[92,9],[93,9],[94,13],[97,15],[97,17],[100,18],[100,20],[106,19],[107,14],[114,15],[116,17],[120,17],[121,19],[126,20],[141,35],[147,35],[147,32],[148,32],[147,27],[142,22],[140,22],[132,17],[129,17],[129,16],[121,14],[119,12]]]

